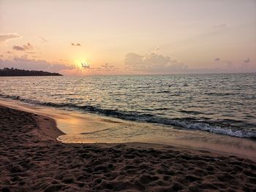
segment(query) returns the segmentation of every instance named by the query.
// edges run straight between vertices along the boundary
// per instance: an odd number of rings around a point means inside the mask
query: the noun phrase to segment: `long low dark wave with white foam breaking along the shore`
[[[99,115],[105,115],[113,118],[120,118],[122,120],[133,120],[145,123],[157,123],[167,126],[178,126],[179,128],[195,129],[201,131],[208,131],[215,134],[225,134],[233,137],[246,137],[256,138],[256,130],[252,128],[230,126],[215,122],[206,122],[196,118],[165,118],[157,115],[140,113],[140,112],[123,112],[119,110],[102,109],[91,105],[80,106],[76,104],[66,103],[57,104],[52,102],[35,101],[31,99],[23,99],[20,96],[9,96],[0,94],[1,98],[4,99],[15,99],[20,100],[29,104],[38,104],[49,107],[61,107],[61,108],[72,108],[74,110],[83,110],[84,112],[97,113]]]

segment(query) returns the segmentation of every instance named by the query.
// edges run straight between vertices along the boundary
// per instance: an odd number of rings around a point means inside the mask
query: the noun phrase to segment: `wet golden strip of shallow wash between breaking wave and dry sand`
[[[10,99],[0,99],[0,104],[54,118],[58,128],[65,133],[57,138],[60,142],[93,144],[146,142],[152,146],[176,145],[256,159],[254,139],[156,123],[139,123],[74,110],[26,104]]]

